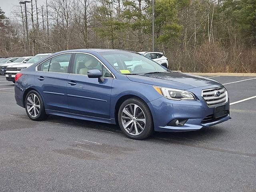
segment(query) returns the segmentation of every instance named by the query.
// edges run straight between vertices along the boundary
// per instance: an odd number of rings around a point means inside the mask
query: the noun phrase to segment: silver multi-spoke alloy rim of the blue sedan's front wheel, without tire
[[[136,104],[128,104],[122,110],[122,125],[131,135],[139,135],[146,126],[146,117],[143,110]]]

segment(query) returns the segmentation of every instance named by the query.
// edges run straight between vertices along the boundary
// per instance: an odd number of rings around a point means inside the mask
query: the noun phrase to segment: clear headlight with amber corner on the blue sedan
[[[153,86],[154,89],[162,96],[172,100],[196,100],[194,94],[189,91],[172,89],[167,87]]]

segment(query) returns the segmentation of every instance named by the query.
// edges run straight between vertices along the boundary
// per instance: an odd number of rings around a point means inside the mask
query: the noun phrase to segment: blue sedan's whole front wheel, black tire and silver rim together
[[[134,108],[136,108],[136,115],[132,116]],[[131,139],[142,140],[148,138],[154,132],[150,109],[139,98],[130,98],[121,104],[118,110],[118,123],[122,132]]]

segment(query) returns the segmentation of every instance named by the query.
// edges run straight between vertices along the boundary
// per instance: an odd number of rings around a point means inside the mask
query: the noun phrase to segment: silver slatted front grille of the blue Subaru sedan
[[[220,92],[220,96],[215,96],[217,91]],[[202,90],[202,97],[208,106],[216,106],[228,101],[228,92],[224,87],[205,89]]]

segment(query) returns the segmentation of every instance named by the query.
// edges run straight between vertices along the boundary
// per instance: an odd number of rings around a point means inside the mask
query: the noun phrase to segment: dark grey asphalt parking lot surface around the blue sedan
[[[211,78],[227,88],[232,120],[131,140],[110,124],[31,121],[0,76],[0,191],[255,192],[256,78]]]

